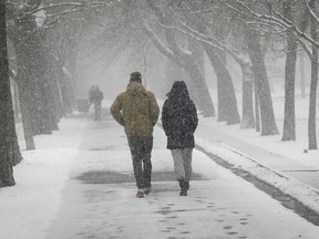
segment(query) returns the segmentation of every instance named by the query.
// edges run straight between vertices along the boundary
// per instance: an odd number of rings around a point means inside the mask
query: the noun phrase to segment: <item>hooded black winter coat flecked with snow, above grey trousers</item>
[[[162,111],[162,125],[167,136],[167,148],[194,148],[194,132],[198,124],[195,104],[186,84],[175,82]]]

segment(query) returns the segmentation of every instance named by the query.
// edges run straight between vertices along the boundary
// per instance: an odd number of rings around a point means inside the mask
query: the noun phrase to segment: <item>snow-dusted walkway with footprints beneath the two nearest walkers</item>
[[[156,127],[153,191],[135,198],[123,129],[110,118],[90,123],[47,239],[318,238],[319,227],[198,150],[188,196],[178,196],[165,144]]]

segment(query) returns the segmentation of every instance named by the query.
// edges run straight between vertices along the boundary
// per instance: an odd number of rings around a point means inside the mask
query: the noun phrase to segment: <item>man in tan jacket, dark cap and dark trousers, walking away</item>
[[[142,85],[140,72],[131,74],[126,91],[117,95],[110,111],[115,121],[124,126],[138,188],[136,197],[144,197],[152,186],[153,127],[160,108],[154,94]]]

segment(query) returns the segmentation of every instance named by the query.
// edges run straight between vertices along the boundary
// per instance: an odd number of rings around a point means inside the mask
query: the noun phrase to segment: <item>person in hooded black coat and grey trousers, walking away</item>
[[[174,159],[174,172],[181,186],[179,195],[186,196],[192,178],[197,111],[184,81],[175,81],[167,96],[162,110],[162,125],[167,136],[167,148]]]

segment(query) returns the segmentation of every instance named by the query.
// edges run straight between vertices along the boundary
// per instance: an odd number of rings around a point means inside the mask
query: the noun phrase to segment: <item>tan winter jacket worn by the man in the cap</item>
[[[127,136],[153,136],[160,108],[154,94],[138,82],[130,82],[113,102],[111,114],[124,126]]]

